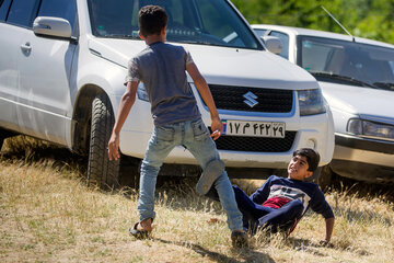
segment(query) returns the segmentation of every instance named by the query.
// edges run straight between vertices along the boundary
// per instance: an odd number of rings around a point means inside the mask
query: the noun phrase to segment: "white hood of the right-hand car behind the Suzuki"
[[[332,110],[393,118],[393,91],[323,81],[318,83]]]

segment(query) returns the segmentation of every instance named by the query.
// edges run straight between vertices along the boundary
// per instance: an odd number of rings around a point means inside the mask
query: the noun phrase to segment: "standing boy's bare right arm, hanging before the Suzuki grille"
[[[223,124],[219,117],[219,113],[215,105],[212,94],[209,90],[206,80],[204,79],[204,77],[201,76],[197,66],[194,62],[187,64],[186,70],[192,77],[195,85],[197,87],[198,92],[200,93],[204,102],[209,108],[211,116],[211,129],[212,129],[211,137],[213,138],[213,140],[216,140],[223,133]]]

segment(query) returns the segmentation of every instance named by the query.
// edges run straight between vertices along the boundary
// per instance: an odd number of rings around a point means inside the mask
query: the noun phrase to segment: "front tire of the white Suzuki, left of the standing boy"
[[[114,123],[115,116],[108,96],[99,94],[92,103],[88,183],[101,188],[119,186],[120,160],[109,161],[107,152]]]

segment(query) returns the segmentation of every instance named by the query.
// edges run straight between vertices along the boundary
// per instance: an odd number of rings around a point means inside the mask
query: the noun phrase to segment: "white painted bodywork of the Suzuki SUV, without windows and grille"
[[[125,92],[124,80],[128,60],[142,50],[146,44],[140,39],[94,35],[86,1],[77,0],[78,32],[76,37],[67,39],[36,35],[31,27],[9,25],[0,21],[0,33],[12,31],[19,34],[12,37],[12,41],[18,43],[12,44],[14,50],[9,54],[10,65],[3,60],[5,56],[0,56],[2,128],[32,135],[74,150],[76,145],[85,144],[85,138],[76,134],[76,127],[88,126],[91,111],[89,103],[97,93],[107,94],[113,112],[117,113],[120,98]],[[222,3],[233,8],[229,1]],[[235,9],[232,11],[245,23],[245,28],[250,31],[255,43],[258,43],[245,19]],[[47,19],[50,21],[50,16]],[[31,53],[22,54],[19,50],[20,46],[27,42]],[[3,43],[5,42],[0,41],[1,46],[5,45]],[[287,151],[219,150],[228,165],[286,168],[292,151],[301,147],[312,147],[320,151],[321,165],[332,160],[334,126],[328,105],[325,104],[325,111],[320,114],[300,116],[299,92],[320,89],[315,79],[305,70],[264,50],[263,47],[253,49],[206,44],[172,44],[183,45],[190,52],[208,84],[242,87],[248,91],[273,89],[291,92],[291,111],[287,113],[218,108],[222,119],[279,122],[286,124],[286,130],[294,133],[294,141]],[[258,43],[257,47],[259,45]],[[209,126],[210,114],[189,77],[188,81],[202,119]],[[14,88],[11,88],[12,85]],[[120,150],[124,155],[143,158],[153,128],[150,107],[149,102],[137,98],[120,132]],[[84,112],[81,112],[82,110]],[[177,147],[165,162],[195,164],[195,159],[183,147]]]

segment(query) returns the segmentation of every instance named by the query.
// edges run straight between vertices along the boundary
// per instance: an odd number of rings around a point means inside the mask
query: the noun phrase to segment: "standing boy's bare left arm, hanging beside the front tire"
[[[138,81],[127,82],[126,91],[120,99],[119,110],[116,116],[113,133],[108,141],[108,158],[117,160],[120,158],[119,153],[119,133],[123,125],[126,122],[127,115],[129,114],[131,106],[136,101],[136,92],[138,88]]]

